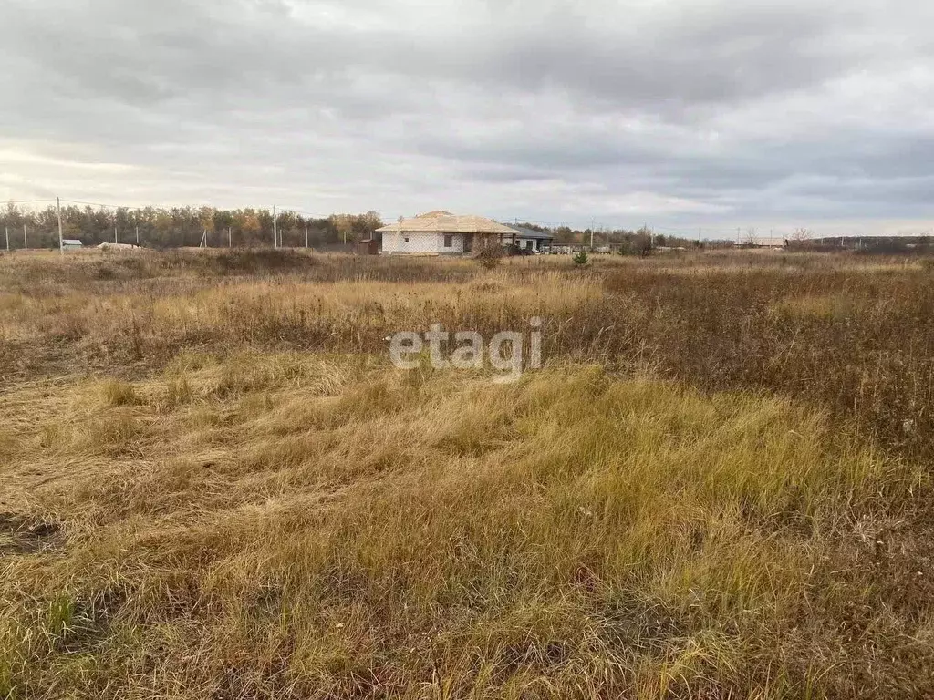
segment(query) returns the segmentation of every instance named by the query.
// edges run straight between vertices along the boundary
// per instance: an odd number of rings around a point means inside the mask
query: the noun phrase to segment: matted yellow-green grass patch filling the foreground
[[[825,557],[922,479],[788,401],[597,367],[191,356],[0,410],[0,511],[65,534],[0,565],[14,697],[845,688]]]

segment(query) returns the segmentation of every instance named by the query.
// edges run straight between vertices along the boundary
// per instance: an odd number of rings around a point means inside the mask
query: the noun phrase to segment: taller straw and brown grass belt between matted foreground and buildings
[[[120,273],[95,279],[100,266]],[[0,383],[50,368],[145,372],[192,348],[382,356],[396,330],[489,336],[538,315],[546,357],[779,391],[856,416],[901,454],[934,455],[934,276],[917,261],[715,253],[573,267],[514,259],[490,273],[466,259],[288,251],[7,256]]]

